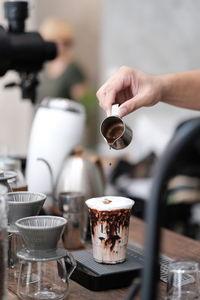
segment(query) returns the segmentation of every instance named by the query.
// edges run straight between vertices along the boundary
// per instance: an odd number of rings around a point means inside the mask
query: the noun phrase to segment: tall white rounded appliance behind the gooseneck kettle
[[[81,143],[85,129],[84,107],[62,98],[44,99],[38,107],[30,134],[27,155],[26,181],[28,189],[52,193],[64,158]],[[51,166],[53,183],[47,166]]]

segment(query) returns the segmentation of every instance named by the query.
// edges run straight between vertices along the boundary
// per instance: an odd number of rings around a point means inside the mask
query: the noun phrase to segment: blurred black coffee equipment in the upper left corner
[[[0,76],[8,70],[18,72],[19,83],[11,82],[5,87],[19,86],[22,98],[34,103],[38,72],[46,61],[56,57],[56,44],[44,41],[38,32],[25,32],[27,1],[5,1],[4,13],[8,28],[0,26]]]

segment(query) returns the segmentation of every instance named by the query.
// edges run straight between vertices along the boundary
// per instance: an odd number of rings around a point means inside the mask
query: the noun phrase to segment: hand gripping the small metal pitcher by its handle
[[[159,76],[123,66],[98,90],[99,105],[111,114],[113,104],[119,104],[123,117],[142,106],[152,106],[161,100],[162,84]]]

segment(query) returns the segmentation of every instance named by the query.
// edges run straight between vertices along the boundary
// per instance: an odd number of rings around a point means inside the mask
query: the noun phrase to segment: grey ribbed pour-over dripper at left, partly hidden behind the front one
[[[46,195],[31,192],[11,192],[5,196],[8,204],[8,232],[18,232],[15,222],[18,219],[38,215]]]

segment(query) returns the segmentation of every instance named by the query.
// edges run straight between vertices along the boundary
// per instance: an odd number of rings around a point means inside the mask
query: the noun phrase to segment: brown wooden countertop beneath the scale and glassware
[[[131,218],[130,231],[129,231],[129,242],[143,245],[145,234],[145,223],[136,217]],[[163,254],[174,258],[174,259],[187,259],[196,260],[200,263],[200,242],[189,239],[177,233],[169,230],[162,230],[162,244],[161,251]],[[160,297],[165,295],[166,284],[159,282]],[[8,292],[9,300],[16,300],[18,297],[15,294],[16,286],[13,286],[12,291]],[[127,294],[128,288],[98,291],[94,292],[84,288],[73,280],[70,280],[70,292],[67,299],[87,299],[87,300],[102,300],[110,299],[117,300],[123,299]],[[140,297],[138,296],[138,300]]]

